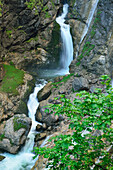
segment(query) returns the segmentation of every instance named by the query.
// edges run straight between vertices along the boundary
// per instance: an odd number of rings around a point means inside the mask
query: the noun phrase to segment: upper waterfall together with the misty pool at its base
[[[41,70],[40,76],[43,78],[55,77],[69,74],[69,65],[73,60],[73,41],[70,34],[70,26],[65,24],[65,17],[68,13],[68,4],[63,5],[63,13],[56,18],[56,22],[60,25],[62,51],[58,69]],[[52,73],[52,74],[51,74]]]

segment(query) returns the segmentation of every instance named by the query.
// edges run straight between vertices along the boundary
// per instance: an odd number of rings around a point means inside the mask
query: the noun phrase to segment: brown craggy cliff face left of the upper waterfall
[[[0,61],[12,61],[18,68],[56,62],[59,56],[59,27],[55,22],[60,1],[43,1],[43,11],[30,10],[21,0],[4,0],[1,18]],[[55,29],[54,29],[55,28]],[[55,39],[53,41],[53,39]],[[54,47],[54,48],[53,48]],[[53,57],[53,51],[56,56]]]

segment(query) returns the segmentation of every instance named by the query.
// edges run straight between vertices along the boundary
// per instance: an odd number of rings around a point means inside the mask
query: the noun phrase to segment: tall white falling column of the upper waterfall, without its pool
[[[69,72],[69,65],[73,60],[73,42],[70,34],[70,26],[65,24],[65,17],[68,13],[68,4],[63,5],[63,13],[56,18],[56,22],[60,25],[61,39],[62,39],[62,52],[60,59],[60,67]]]

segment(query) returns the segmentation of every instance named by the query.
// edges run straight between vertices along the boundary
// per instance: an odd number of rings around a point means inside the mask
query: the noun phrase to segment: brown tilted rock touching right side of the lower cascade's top
[[[38,101],[46,100],[51,94],[52,83],[47,83],[42,90],[39,91],[37,97]]]

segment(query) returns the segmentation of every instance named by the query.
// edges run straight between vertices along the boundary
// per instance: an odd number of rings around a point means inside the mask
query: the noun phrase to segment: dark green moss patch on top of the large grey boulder
[[[21,120],[19,120],[19,117],[18,117],[18,116],[15,116],[15,117],[14,117],[13,123],[14,123],[14,131],[18,131],[18,130],[21,129],[21,128],[24,128],[24,129],[27,128],[27,125],[24,124],[24,121],[21,122]]]

